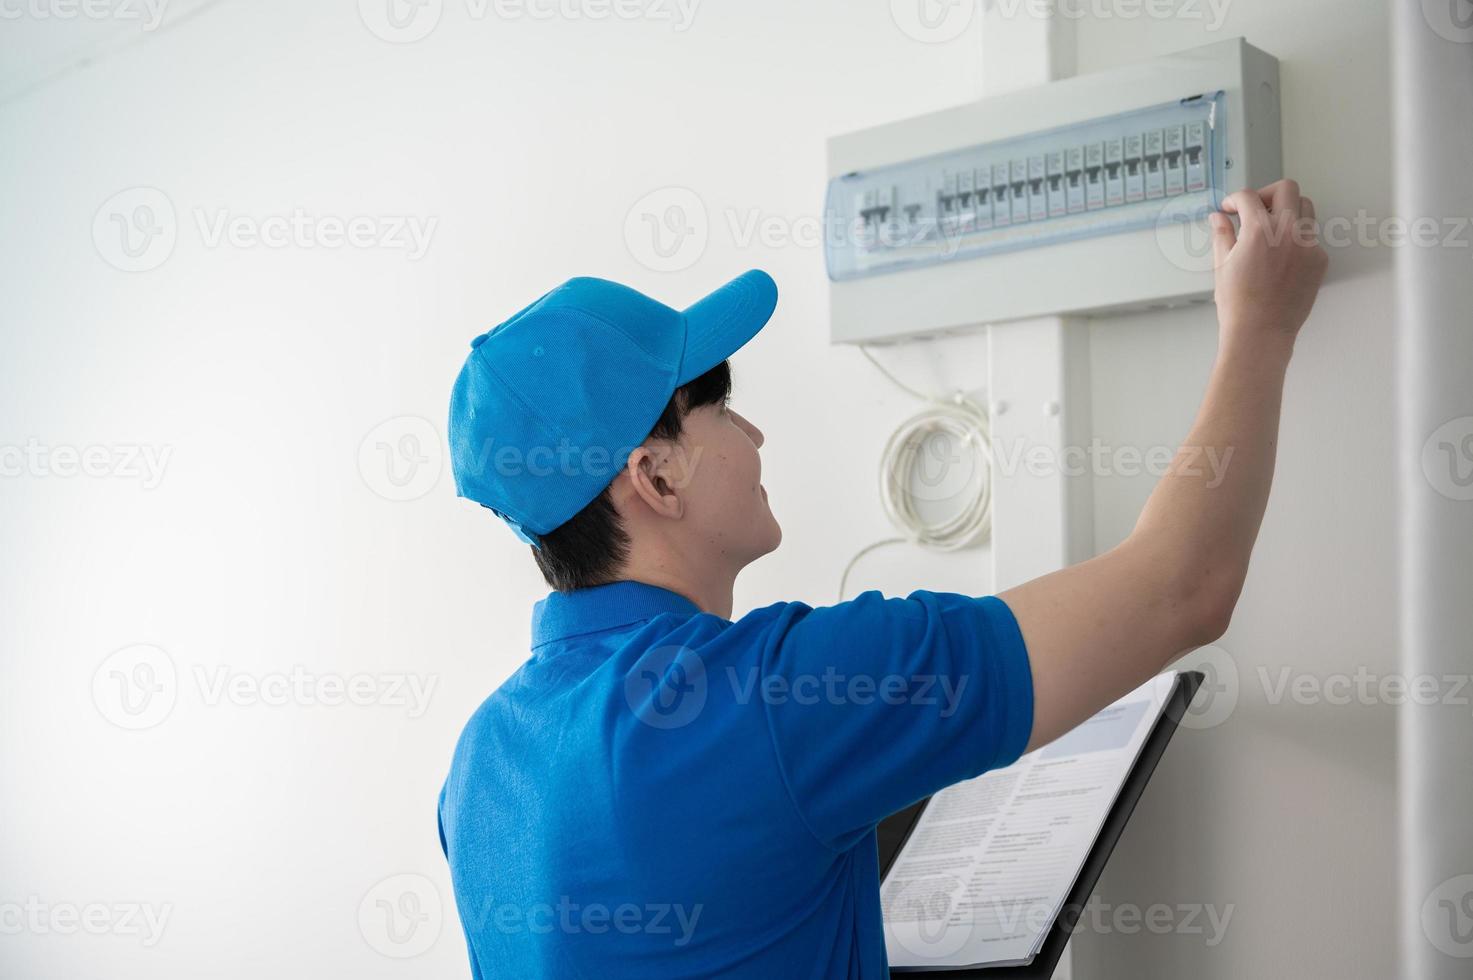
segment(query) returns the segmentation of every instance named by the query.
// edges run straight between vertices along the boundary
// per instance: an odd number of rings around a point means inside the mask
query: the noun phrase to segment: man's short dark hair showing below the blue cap
[[[650,438],[679,439],[682,421],[691,410],[719,405],[731,393],[731,365],[722,361],[675,389]],[[532,557],[542,569],[542,578],[560,592],[613,582],[629,560],[629,533],[619,520],[608,486],[572,519],[542,535],[542,547],[532,548]]]

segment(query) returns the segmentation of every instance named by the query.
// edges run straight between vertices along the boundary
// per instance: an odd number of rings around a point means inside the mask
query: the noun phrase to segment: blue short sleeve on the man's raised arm
[[[787,606],[763,651],[778,765],[809,830],[848,847],[953,783],[1012,765],[1033,672],[1000,598],[865,592]]]

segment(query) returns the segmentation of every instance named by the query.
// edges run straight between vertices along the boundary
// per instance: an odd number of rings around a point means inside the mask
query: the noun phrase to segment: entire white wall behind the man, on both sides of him
[[[1239,0],[1212,35],[1199,22],[1086,22],[1080,68],[1246,34],[1283,59],[1286,165],[1321,214],[1385,212],[1382,6],[1286,6]],[[387,501],[361,444],[390,419],[440,426],[465,342],[567,276],[679,304],[763,267],[782,302],[735,361],[736,404],[767,432],[787,542],[744,578],[738,607],[831,600],[847,559],[890,533],[873,466],[913,405],[828,346],[819,251],[741,243],[728,214],[801,230],[822,202],[823,137],[969,97],[978,38],[918,43],[887,4],[840,0],[707,0],[685,31],[474,19],[452,0],[412,44],[374,37],[351,3],[202,9],[138,43],[108,31],[99,63],[31,90],[27,71],[68,62],[68,25],[4,27],[22,81],[0,102],[0,445],[171,455],[152,489],[34,466],[0,479],[0,902],[138,902],[169,918],[152,946],[122,928],[28,927],[0,936],[0,967],[464,976],[449,909],[421,956],[380,955],[393,946],[374,942],[370,890],[424,875],[448,900],[435,794],[460,725],[524,656],[544,589],[511,535],[454,500],[448,473]],[[91,43],[96,25],[72,27],[77,46]],[[27,62],[32,41],[62,53]],[[91,225],[138,186],[168,195],[178,243],[162,265],[122,273]],[[670,186],[697,192],[711,233],[694,264],[661,273],[641,264],[625,218]],[[197,209],[298,208],[437,225],[418,261],[211,248],[196,225]],[[1227,940],[1091,934],[1077,943],[1080,976],[1391,974],[1377,939],[1393,921],[1391,712],[1268,706],[1255,675],[1393,662],[1389,258],[1335,262],[1292,374],[1254,576],[1221,644],[1243,679],[1237,709],[1183,732],[1102,884],[1102,897],[1142,906],[1233,903]],[[916,385],[978,388],[981,351],[972,337],[881,357]],[[1180,438],[1211,351],[1208,312],[1099,324],[1100,435]],[[1147,489],[1102,482],[1102,547]],[[987,591],[987,567],[985,551],[894,548],[866,559],[853,588]],[[99,666],[134,644],[166,651],[178,678],[172,712],[143,731],[109,722],[112,688],[93,694]],[[420,718],[211,703],[219,668],[262,679],[298,665],[436,687]]]

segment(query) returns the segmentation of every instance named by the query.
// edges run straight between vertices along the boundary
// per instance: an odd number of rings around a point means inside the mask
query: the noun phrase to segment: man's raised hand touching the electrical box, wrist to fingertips
[[[1242,223],[1236,233],[1228,214]],[[1223,345],[1287,340],[1292,348],[1330,264],[1314,202],[1295,181],[1280,180],[1239,190],[1211,224]]]

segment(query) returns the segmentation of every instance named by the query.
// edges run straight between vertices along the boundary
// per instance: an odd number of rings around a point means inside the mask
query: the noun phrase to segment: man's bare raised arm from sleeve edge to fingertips
[[[1097,559],[1008,589],[1033,666],[1036,749],[1227,629],[1268,503],[1295,335],[1324,277],[1314,205],[1283,180],[1212,215],[1221,342],[1186,444],[1136,529]],[[1226,460],[1212,479],[1200,452]]]

